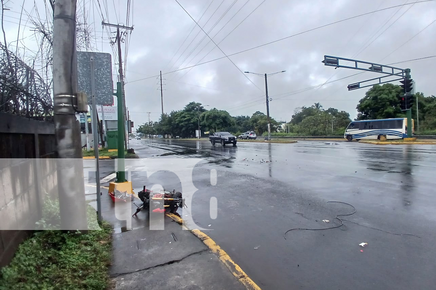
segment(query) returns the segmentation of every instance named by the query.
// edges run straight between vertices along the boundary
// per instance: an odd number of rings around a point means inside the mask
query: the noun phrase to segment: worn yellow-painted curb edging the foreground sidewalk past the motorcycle
[[[183,224],[183,219],[177,217],[175,214],[167,213],[167,216],[177,223]],[[218,255],[219,260],[228,268],[228,270],[230,270],[230,272],[232,272],[233,276],[235,276],[236,279],[245,286],[245,288],[248,290],[262,290],[250,277],[247,276],[244,270],[242,270],[241,267],[232,260],[225,250],[221,249],[221,247],[218,246],[217,243],[215,243],[215,241],[207,234],[198,229],[191,230],[191,233],[202,240],[212,252]]]

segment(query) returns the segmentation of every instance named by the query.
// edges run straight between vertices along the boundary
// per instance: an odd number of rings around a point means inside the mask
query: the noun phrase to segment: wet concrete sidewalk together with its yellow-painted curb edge
[[[91,205],[96,207],[91,194],[95,188],[92,190],[92,187],[88,187],[87,190],[87,199],[92,200]],[[128,230],[126,221],[116,218],[115,203],[107,195],[107,190],[102,190],[102,193],[102,217],[113,225],[115,232],[109,270],[114,282],[113,289],[259,290],[228,255],[203,233],[198,230],[191,233],[164,214],[161,216],[163,220],[160,220],[164,230],[150,230],[147,211],[141,211],[132,218],[132,230]],[[137,198],[134,202],[140,204]],[[132,210],[132,214],[136,210],[131,200],[125,206],[127,211]],[[204,242],[205,239],[209,243]],[[222,257],[223,254],[227,257]],[[233,263],[230,266],[229,260]]]

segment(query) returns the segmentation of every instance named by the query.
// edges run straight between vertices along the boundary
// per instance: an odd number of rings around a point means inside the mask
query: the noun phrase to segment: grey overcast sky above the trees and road
[[[251,115],[258,110],[266,113],[264,78],[241,71],[263,74],[286,70],[268,78],[268,94],[272,98],[269,109],[273,118],[289,121],[296,107],[311,106],[315,102],[320,102],[326,109],[345,110],[354,118],[356,105],[367,88],[348,91],[347,85],[380,74],[366,72],[320,88],[295,92],[360,72],[324,66],[321,63],[324,55],[382,64],[436,55],[436,24],[430,24],[436,20],[436,1],[370,13],[247,52],[238,52],[348,17],[415,1],[179,0],[215,43],[219,43],[221,52],[175,0],[131,0],[128,25],[133,25],[134,30],[129,37],[127,59],[123,60],[126,65],[126,106],[131,119],[135,127],[147,121],[146,112],[151,112],[151,120],[159,120],[160,90],[157,89],[160,86],[153,76],[158,75],[160,70],[165,79],[165,113],[180,110],[191,101],[209,105],[207,108],[228,110],[232,116]],[[91,45],[93,50],[112,53],[112,64],[116,67],[118,57],[113,55],[106,30],[102,32],[102,16],[97,2],[78,1],[82,7],[78,13],[82,13],[85,6],[89,27],[95,31]],[[126,24],[126,0],[99,0],[99,3],[105,22]],[[19,22],[21,4],[19,0],[7,4],[11,9],[5,11],[4,18],[7,20],[4,25],[8,42],[17,39],[16,23]],[[33,5],[31,0],[24,2],[25,12],[31,17],[35,17]],[[44,5],[38,5],[41,15]],[[45,13],[42,14],[41,17],[45,17]],[[26,13],[23,19],[27,19]],[[27,25],[22,25],[20,31],[20,38],[27,38],[18,46],[23,47],[24,43],[36,50],[34,40],[28,37],[31,25]],[[113,33],[111,36],[114,36]],[[16,45],[16,42],[11,45]],[[123,57],[125,47],[123,43]],[[211,53],[205,56],[209,51]],[[230,60],[225,57],[192,69],[168,73],[223,57],[223,52],[238,54],[229,57]],[[410,68],[417,90],[429,96],[436,93],[435,65],[436,57],[393,66]],[[140,80],[147,77],[151,78]]]

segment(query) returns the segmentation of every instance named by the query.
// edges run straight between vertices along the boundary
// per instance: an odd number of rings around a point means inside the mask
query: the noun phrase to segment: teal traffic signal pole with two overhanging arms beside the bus
[[[347,61],[347,63],[349,62],[353,62],[354,65],[340,65],[339,64],[339,60],[344,60]],[[387,74],[386,76],[383,77],[376,77],[374,79],[371,80],[364,80],[358,83],[352,83],[350,85],[348,85],[348,90],[356,90],[356,89],[361,89],[364,87],[372,87],[375,84],[381,84],[381,83],[391,83],[393,81],[396,80],[404,80],[405,84],[404,84],[404,88],[405,88],[405,98],[407,99],[406,95],[407,93],[407,80],[411,79],[410,78],[410,69],[402,69],[399,67],[390,67],[387,65],[383,65],[383,64],[378,64],[378,63],[370,63],[367,61],[361,61],[361,60],[352,60],[349,58],[343,58],[343,57],[332,57],[332,56],[328,56],[328,55],[324,55],[324,60],[322,61],[322,63],[324,63],[324,65],[326,66],[330,66],[330,67],[344,67],[344,68],[351,68],[354,70],[366,70],[366,71],[373,71],[376,73],[384,73]],[[359,67],[364,65],[371,65],[368,68],[364,68],[364,67]],[[388,78],[392,78],[392,77],[399,77],[398,79],[389,79],[389,80],[384,80],[385,77]],[[382,80],[383,79],[383,80]],[[377,83],[375,83],[375,80],[378,80]],[[367,82],[371,82],[371,84],[364,84]],[[406,109],[406,117],[407,117],[407,137],[411,138],[412,137],[412,110],[410,108],[405,108]]]

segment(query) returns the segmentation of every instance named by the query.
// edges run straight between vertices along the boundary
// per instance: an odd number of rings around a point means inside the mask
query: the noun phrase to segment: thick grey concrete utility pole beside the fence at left
[[[77,113],[76,0],[56,0],[53,104],[61,229],[87,229],[82,144]],[[85,122],[86,125],[87,122]]]

